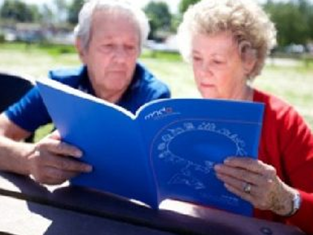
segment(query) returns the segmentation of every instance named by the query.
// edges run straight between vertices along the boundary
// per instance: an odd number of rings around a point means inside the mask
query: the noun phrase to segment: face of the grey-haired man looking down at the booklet
[[[80,52],[96,96],[114,101],[133,78],[140,52],[138,28],[126,17],[97,11],[89,47]]]

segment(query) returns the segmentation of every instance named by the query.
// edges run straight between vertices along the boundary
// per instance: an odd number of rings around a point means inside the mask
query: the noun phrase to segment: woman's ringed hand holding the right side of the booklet
[[[292,200],[297,191],[279,179],[273,166],[250,158],[231,157],[214,169],[229,191],[255,208],[279,215],[293,210]]]

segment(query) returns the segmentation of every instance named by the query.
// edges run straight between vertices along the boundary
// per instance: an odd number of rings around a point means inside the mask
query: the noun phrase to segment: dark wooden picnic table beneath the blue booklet
[[[295,227],[166,201],[155,211],[107,193],[0,172],[0,234],[303,235]],[[174,211],[175,210],[175,211]]]

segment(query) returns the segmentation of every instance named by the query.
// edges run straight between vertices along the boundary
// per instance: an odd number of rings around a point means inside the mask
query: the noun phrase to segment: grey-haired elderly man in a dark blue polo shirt
[[[136,62],[149,33],[145,14],[122,0],[90,0],[79,14],[76,48],[84,66],[50,71],[71,87],[116,103],[131,112],[170,96],[165,84]],[[0,169],[59,184],[92,167],[76,161],[82,152],[53,133],[36,144],[21,142],[51,122],[35,87],[0,115]]]

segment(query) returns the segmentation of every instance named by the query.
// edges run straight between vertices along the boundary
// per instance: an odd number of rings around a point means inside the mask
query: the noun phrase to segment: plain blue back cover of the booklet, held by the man
[[[39,80],[37,85],[62,139],[79,147],[84,152],[82,161],[93,166],[92,173],[81,174],[71,183],[133,198],[156,208],[151,164],[143,153],[137,124],[129,114],[50,79]]]

